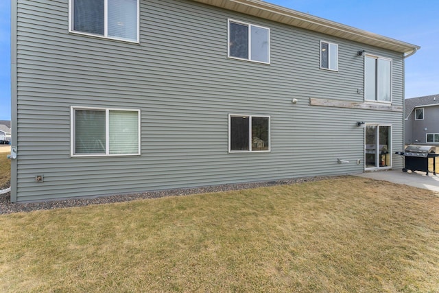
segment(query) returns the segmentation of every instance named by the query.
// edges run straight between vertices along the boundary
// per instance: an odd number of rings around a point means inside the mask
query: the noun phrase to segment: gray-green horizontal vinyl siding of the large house
[[[355,121],[392,124],[400,149],[403,113],[309,97],[363,102],[365,49],[392,58],[392,104],[402,106],[402,54],[192,1],[140,6],[137,44],[69,33],[68,0],[19,0],[16,200],[359,173]],[[227,58],[228,19],[270,28],[270,65]],[[338,72],[320,69],[320,40],[339,45]],[[141,155],[71,157],[71,106],[140,109]],[[269,115],[271,152],[228,153],[228,114]]]

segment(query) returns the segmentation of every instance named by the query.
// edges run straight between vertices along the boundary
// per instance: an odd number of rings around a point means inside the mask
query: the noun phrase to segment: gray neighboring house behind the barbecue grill
[[[439,145],[439,95],[405,99],[405,144]]]

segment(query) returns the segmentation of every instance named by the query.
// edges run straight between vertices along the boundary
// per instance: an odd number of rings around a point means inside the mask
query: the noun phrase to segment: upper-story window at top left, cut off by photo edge
[[[70,30],[139,41],[139,0],[70,0]]]

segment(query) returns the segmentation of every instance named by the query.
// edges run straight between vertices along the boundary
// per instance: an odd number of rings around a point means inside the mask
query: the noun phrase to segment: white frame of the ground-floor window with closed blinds
[[[105,111],[105,154],[75,154],[75,110],[104,110]],[[109,125],[109,115],[110,110],[113,111],[127,111],[127,112],[137,112],[138,119],[138,138],[139,145],[137,147],[137,154],[110,154],[110,144],[108,143],[110,137]],[[82,107],[82,106],[71,106],[70,107],[70,156],[71,157],[84,157],[84,156],[139,156],[141,154],[141,110],[140,109],[123,109],[123,108],[98,108],[98,107]]]

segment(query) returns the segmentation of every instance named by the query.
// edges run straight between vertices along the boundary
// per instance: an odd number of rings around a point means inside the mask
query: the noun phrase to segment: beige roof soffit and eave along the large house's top
[[[278,5],[267,3],[261,0],[192,0],[208,5],[213,5],[227,10],[233,10],[252,16],[269,19],[278,23],[285,23],[295,27],[301,27],[306,30],[320,32],[322,34],[329,34],[337,36],[346,40],[353,40],[355,42],[389,49],[400,53],[411,53],[420,49],[417,45],[405,43],[400,40],[381,36],[364,30],[359,30],[355,27],[321,19],[317,16],[283,8]]]

